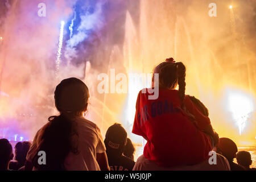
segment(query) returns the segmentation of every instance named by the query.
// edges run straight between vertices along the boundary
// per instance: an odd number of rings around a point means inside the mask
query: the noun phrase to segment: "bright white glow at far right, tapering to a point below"
[[[243,129],[245,129],[247,119],[250,118],[250,113],[254,110],[253,98],[236,90],[230,91],[227,97],[228,110],[232,113],[241,135]]]

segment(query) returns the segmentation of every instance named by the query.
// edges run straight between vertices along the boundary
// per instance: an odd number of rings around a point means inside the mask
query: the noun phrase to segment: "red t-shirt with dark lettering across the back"
[[[177,90],[159,89],[157,100],[148,100],[150,93],[139,92],[133,133],[147,140],[144,156],[160,166],[192,165],[209,158],[212,143],[203,133],[210,124],[188,96],[184,105],[193,114],[197,127],[180,109]]]

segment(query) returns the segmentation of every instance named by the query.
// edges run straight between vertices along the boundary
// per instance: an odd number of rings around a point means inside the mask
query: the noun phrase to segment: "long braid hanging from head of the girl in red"
[[[176,64],[177,64],[177,77],[178,77],[178,84],[179,84],[179,97],[181,101],[181,108],[184,108],[186,68],[185,68],[185,65],[181,62]]]

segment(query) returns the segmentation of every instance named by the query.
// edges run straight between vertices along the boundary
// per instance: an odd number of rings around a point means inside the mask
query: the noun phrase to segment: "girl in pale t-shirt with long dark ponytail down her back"
[[[84,118],[89,99],[87,86],[77,78],[68,78],[57,85],[54,94],[60,115],[49,117],[36,134],[25,169],[32,164],[35,170],[47,171],[108,170],[100,129]]]

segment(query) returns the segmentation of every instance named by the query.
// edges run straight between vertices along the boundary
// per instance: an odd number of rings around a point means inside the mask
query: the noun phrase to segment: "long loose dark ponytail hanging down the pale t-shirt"
[[[77,142],[73,136],[77,135],[75,122],[67,116],[51,116],[40,138],[39,151],[46,152],[46,165],[39,165],[36,154],[33,164],[39,171],[65,170],[64,161],[69,152],[78,153]]]

